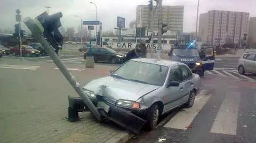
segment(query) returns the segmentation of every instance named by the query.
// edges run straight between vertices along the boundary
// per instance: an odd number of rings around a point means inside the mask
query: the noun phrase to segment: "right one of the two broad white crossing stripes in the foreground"
[[[226,94],[210,132],[236,135],[240,95],[239,92]]]

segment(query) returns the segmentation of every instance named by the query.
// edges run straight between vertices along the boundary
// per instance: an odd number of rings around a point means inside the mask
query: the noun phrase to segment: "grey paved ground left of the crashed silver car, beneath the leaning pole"
[[[81,85],[116,68],[66,66]],[[79,122],[68,122],[68,96],[77,97],[77,94],[52,63],[3,58],[0,61],[0,81],[1,143],[98,143],[125,133],[113,124],[95,121],[90,113],[79,114],[83,117]]]

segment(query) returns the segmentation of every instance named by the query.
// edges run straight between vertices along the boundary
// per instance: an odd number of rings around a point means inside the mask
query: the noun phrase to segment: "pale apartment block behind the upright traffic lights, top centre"
[[[155,6],[153,7],[155,9]],[[184,6],[171,6],[164,5],[162,9],[162,20],[164,23],[168,24],[167,28],[171,31],[181,31],[183,32],[183,13]],[[153,30],[157,31],[158,27],[158,9],[154,13],[154,18],[150,18],[150,11],[148,5],[138,5],[136,9],[136,23],[137,27],[149,28],[149,21],[153,20]]]

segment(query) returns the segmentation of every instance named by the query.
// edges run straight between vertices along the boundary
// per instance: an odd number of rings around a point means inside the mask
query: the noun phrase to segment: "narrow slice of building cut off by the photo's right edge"
[[[247,36],[250,46],[256,46],[256,18],[250,18],[249,35]]]

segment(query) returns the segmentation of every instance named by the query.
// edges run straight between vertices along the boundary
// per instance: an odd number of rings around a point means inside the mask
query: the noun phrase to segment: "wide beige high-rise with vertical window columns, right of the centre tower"
[[[204,43],[242,44],[249,30],[249,13],[211,10],[200,14],[198,36]]]

